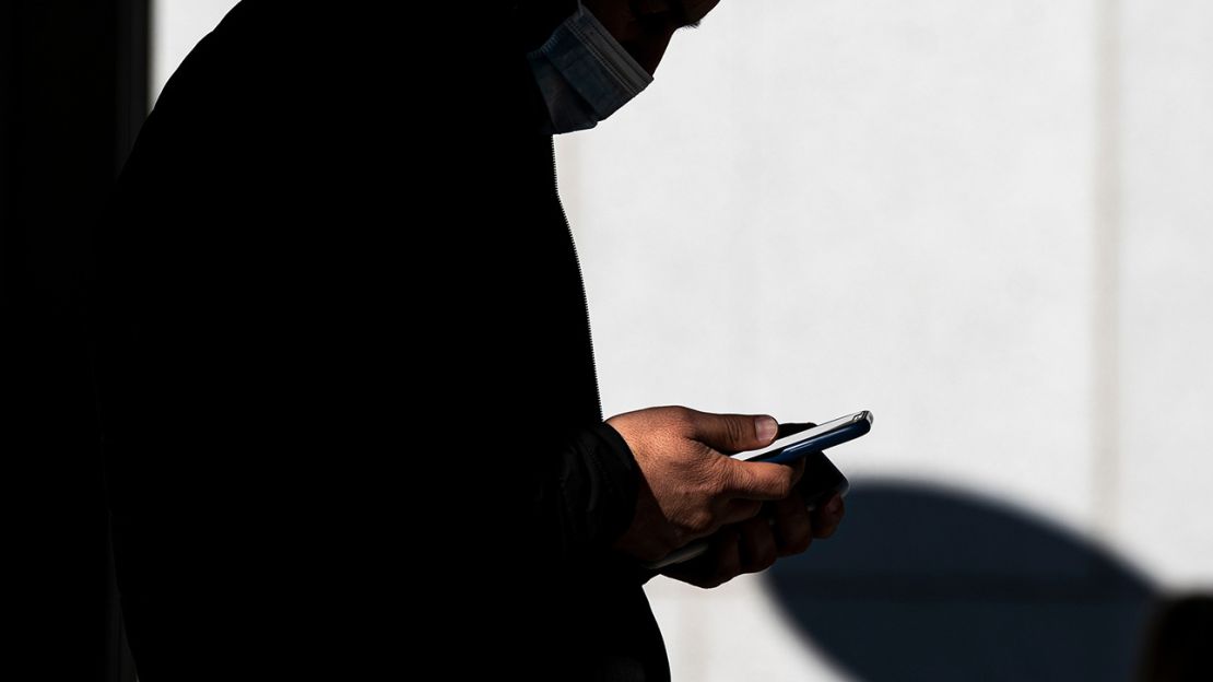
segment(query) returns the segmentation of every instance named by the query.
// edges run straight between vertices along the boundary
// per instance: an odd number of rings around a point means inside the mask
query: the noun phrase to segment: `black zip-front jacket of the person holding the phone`
[[[524,58],[571,10],[502,4],[456,63],[354,5],[241,2],[97,234],[139,677],[666,677]]]

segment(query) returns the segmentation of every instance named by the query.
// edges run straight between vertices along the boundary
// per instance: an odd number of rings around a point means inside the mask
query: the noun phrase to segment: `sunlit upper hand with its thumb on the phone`
[[[627,442],[642,474],[636,516],[616,550],[657,561],[723,525],[753,519],[764,501],[780,502],[776,508],[788,517],[780,527],[788,534],[788,546],[801,540],[805,519],[792,508],[804,507],[793,495],[803,462],[787,466],[728,456],[770,444],[779,427],[773,417],[650,408],[613,416],[606,424]],[[774,533],[765,518],[758,522],[768,535]]]

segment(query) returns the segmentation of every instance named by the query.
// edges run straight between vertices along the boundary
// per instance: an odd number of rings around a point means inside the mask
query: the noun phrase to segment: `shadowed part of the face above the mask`
[[[632,58],[650,74],[679,28],[697,25],[721,0],[583,0]]]

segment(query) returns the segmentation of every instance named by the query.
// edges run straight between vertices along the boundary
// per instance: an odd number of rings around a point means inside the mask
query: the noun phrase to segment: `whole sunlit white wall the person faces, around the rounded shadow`
[[[1213,585],[1211,45],[1195,0],[723,2],[559,138],[608,413],[869,408],[853,478]],[[649,593],[676,678],[842,678],[756,579]]]

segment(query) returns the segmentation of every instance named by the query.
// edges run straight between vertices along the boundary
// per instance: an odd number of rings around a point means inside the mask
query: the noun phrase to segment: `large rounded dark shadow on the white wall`
[[[1107,550],[955,490],[859,481],[844,528],[767,585],[859,680],[1127,681],[1157,595]]]

